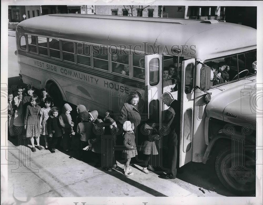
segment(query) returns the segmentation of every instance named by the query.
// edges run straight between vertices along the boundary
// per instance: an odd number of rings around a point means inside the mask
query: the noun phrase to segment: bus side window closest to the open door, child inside
[[[146,54],[133,53],[133,77],[145,79],[145,57]]]

